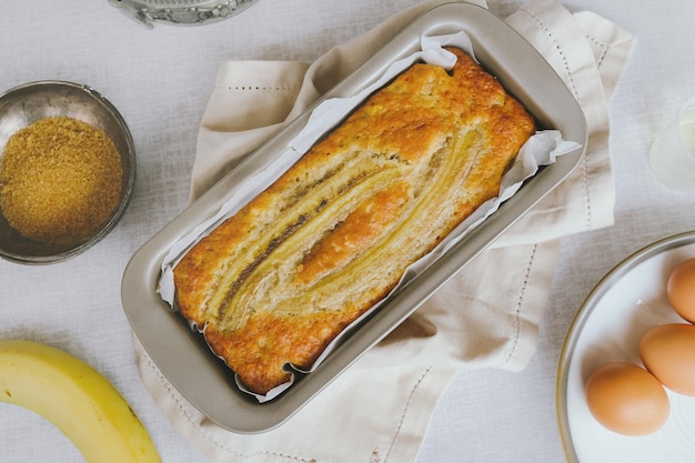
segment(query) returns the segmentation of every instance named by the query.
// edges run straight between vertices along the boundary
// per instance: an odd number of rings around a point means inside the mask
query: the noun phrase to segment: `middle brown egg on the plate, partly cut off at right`
[[[666,387],[695,395],[695,325],[668,323],[651,329],[639,341],[639,356]]]

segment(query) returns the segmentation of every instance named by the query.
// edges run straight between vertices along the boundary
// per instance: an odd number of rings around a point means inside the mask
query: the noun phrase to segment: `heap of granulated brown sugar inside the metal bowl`
[[[88,238],[119,203],[121,157],[100,129],[68,117],[14,133],[0,160],[0,208],[23,236],[49,243]]]

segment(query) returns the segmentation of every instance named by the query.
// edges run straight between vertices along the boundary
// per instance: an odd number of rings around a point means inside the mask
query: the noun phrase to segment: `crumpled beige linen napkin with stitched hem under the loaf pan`
[[[443,2],[402,11],[311,66],[223,63],[200,129],[191,199],[403,24]],[[135,340],[143,383],[172,425],[210,461],[412,462],[455,369],[514,371],[528,363],[560,238],[613,223],[607,107],[634,39],[596,14],[572,14],[552,0],[527,2],[507,22],[546,57],[583,107],[590,139],[582,165],[384,342],[266,433],[234,434],[201,415]]]

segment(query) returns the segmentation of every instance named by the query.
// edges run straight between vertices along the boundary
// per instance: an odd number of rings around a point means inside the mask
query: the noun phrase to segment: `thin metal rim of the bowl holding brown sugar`
[[[137,177],[135,144],[134,144],[132,134],[130,132],[130,129],[125,122],[125,119],[122,117],[120,111],[115,108],[115,105],[113,105],[111,101],[109,101],[107,98],[104,98],[101,93],[99,93],[93,88],[87,84],[79,84],[79,83],[64,81],[64,80],[38,80],[38,81],[27,82],[27,83],[13,87],[0,93],[0,101],[2,101],[4,98],[7,98],[8,95],[12,93],[23,91],[31,87],[48,87],[48,85],[67,87],[73,90],[82,91],[89,98],[92,98],[94,101],[97,101],[99,105],[102,107],[113,118],[115,123],[120,127],[123,133],[123,138],[125,140],[127,152],[122,152],[121,150],[119,150],[119,153],[121,158],[124,158],[124,157],[127,158],[127,161],[130,168],[128,169],[128,179],[124,183],[124,191],[122,193],[122,198],[119,202],[118,208],[113,211],[113,213],[111,214],[111,218],[99,230],[97,230],[97,232],[94,232],[87,241],[79,243],[75,246],[70,248],[69,250],[57,253],[57,254],[47,254],[47,255],[37,255],[37,256],[20,255],[13,252],[9,252],[4,249],[0,249],[0,258],[10,262],[22,263],[22,264],[50,264],[50,263],[62,262],[68,259],[77,256],[78,254],[84,252],[87,249],[93,246],[94,244],[103,240],[107,236],[107,234],[109,234],[115,228],[118,222],[122,219],[123,214],[125,213],[125,210],[130,205],[130,201],[131,201],[132,193],[134,190],[134,184],[135,184],[135,177]]]

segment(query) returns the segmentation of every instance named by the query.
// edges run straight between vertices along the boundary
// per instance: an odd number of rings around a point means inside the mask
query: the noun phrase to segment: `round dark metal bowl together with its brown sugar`
[[[64,261],[119,222],[135,182],[125,121],[87,85],[39,81],[0,94],[0,256]]]

